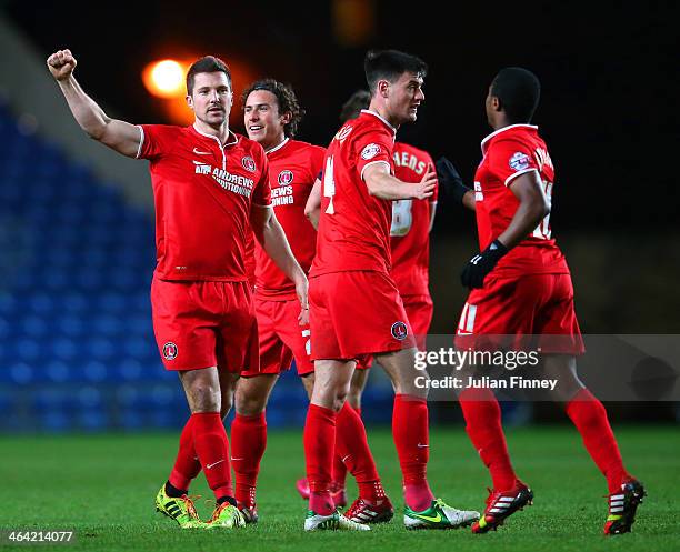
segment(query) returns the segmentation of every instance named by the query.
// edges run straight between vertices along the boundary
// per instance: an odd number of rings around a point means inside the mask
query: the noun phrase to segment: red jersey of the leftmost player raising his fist
[[[156,274],[163,280],[243,281],[251,204],[269,205],[262,147],[230,133],[222,145],[193,127],[142,124],[156,202]]]

